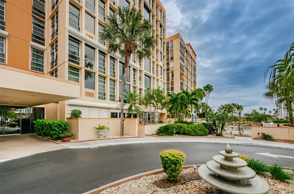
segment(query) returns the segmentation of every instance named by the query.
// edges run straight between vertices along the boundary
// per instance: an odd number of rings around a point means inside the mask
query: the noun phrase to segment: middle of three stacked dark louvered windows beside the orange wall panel
[[[32,41],[40,45],[45,45],[45,23],[32,17],[33,30]]]

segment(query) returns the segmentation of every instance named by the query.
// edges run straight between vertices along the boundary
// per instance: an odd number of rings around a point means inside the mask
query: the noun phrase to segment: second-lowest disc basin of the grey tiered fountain
[[[206,167],[210,171],[212,171],[222,177],[226,177],[229,180],[230,179],[246,180],[246,179],[254,178],[256,176],[255,172],[247,166],[242,167],[242,168],[237,168],[236,170],[230,171],[228,169],[221,168],[218,163],[211,160],[206,163]]]

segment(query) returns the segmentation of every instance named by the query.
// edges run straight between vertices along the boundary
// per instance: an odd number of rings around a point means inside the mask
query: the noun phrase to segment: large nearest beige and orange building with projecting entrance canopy
[[[147,87],[165,88],[166,14],[159,0],[0,0],[1,111],[42,108],[46,119],[66,120],[79,109],[82,117],[119,117],[123,60],[107,53],[99,33],[123,5],[149,18],[158,38],[151,59],[131,58],[126,89],[143,95]]]

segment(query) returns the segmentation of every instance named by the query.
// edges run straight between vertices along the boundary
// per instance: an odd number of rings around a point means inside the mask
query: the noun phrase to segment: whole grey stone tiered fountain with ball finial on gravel
[[[210,185],[218,188],[219,193],[265,194],[270,187],[268,183],[256,175],[247,162],[238,158],[229,144],[220,155],[198,168],[199,176]]]

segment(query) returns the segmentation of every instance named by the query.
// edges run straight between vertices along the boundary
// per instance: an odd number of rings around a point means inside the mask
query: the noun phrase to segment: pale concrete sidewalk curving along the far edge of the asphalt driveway
[[[230,138],[206,138],[206,137],[151,137],[144,138],[124,138],[124,139],[105,139],[97,141],[83,141],[76,143],[63,144],[68,148],[95,148],[100,146],[111,146],[120,144],[139,144],[139,143],[155,143],[155,142],[202,142],[202,143],[223,143],[223,144],[239,144],[239,145],[254,145],[254,146],[269,146],[278,148],[294,149],[294,144],[258,141],[251,137],[235,137]]]

